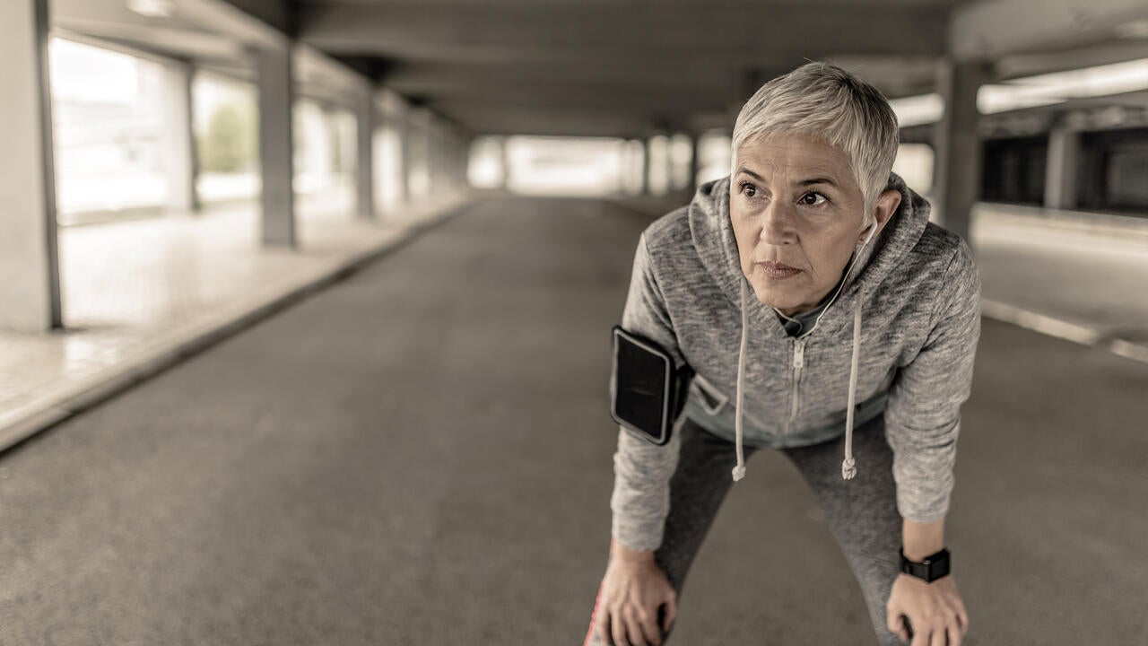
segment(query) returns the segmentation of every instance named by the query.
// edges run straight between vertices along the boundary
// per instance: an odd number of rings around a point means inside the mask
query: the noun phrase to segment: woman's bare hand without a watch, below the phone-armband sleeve
[[[616,543],[612,548],[595,620],[598,639],[614,646],[661,646],[662,635],[677,617],[677,593],[654,562],[653,552],[637,552]],[[666,614],[658,625],[658,608],[662,605]]]

